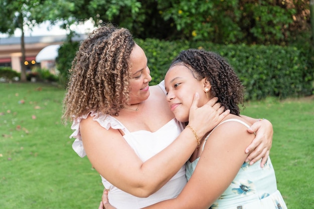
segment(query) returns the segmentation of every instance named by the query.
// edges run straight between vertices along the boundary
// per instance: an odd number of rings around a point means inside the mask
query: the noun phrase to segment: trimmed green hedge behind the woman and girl
[[[156,39],[135,39],[135,42],[147,56],[151,85],[164,79],[169,65],[180,51],[195,48],[216,52],[229,61],[246,87],[246,100],[260,100],[267,96],[283,99],[313,94],[314,58],[309,49],[263,45],[225,46]],[[65,79],[77,46],[78,43],[64,44],[59,49],[58,60],[61,62],[57,63],[58,70]]]

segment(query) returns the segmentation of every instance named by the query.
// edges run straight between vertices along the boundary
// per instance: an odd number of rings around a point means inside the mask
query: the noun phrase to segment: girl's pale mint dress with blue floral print
[[[229,119],[222,123],[228,121],[237,121],[249,127],[237,119]],[[208,137],[209,135],[205,140]],[[199,158],[193,162],[187,162],[186,175],[188,180],[191,178],[198,161]],[[260,167],[260,162],[253,165],[243,163],[229,187],[210,209],[287,209],[279,190],[277,190],[275,172],[270,158],[263,168]]]

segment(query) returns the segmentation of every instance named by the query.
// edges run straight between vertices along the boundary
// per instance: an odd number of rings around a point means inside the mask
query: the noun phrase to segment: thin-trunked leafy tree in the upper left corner
[[[22,31],[21,36],[21,81],[26,81],[25,61],[25,27],[32,29],[34,26],[49,20],[52,24],[57,20],[70,16],[71,9],[74,8],[73,1],[53,1],[53,0],[0,0],[2,13],[0,13],[0,32],[14,34],[16,29]]]

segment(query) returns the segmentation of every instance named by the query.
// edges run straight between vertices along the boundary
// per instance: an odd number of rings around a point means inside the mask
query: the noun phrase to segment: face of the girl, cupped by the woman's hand
[[[194,94],[200,94],[198,106],[203,106],[209,99],[204,91],[209,82],[206,78],[197,80],[192,72],[184,65],[178,64],[171,67],[165,76],[165,87],[167,100],[170,103],[171,111],[180,122],[189,121],[190,107]]]

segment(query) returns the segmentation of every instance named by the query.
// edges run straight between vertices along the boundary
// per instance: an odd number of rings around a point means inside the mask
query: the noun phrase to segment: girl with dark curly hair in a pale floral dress
[[[263,168],[245,162],[243,149],[254,134],[246,131],[251,123],[240,117],[244,87],[228,62],[213,52],[182,51],[166,74],[165,86],[171,110],[181,122],[189,120],[195,92],[201,92],[200,105],[218,97],[231,114],[195,149],[187,162],[188,183],[179,196],[145,208],[286,209],[270,158]],[[112,207],[105,203],[105,208]]]

